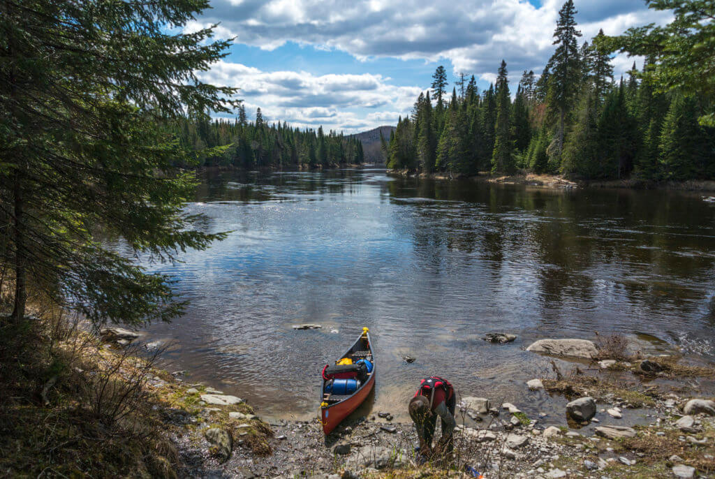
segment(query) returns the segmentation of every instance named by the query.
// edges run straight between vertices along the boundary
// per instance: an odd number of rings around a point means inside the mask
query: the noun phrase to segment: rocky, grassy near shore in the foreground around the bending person
[[[97,337],[77,322],[38,317],[21,330],[4,327],[2,337],[22,334],[27,347],[0,348],[4,477],[471,477],[467,465],[486,478],[715,474],[715,403],[692,400],[715,368],[677,355],[624,355],[616,347],[623,340],[608,338],[570,371],[554,365],[509,403],[460,391],[455,457],[442,469],[415,463],[412,425],[383,419],[394,410],[350,418],[325,438],[317,418],[260,418],[239,397],[154,367],[160,346],[134,346],[134,332]],[[568,343],[570,354],[596,350],[589,343]],[[541,344],[533,354],[558,355],[558,342]],[[570,428],[546,428],[545,415],[519,409],[530,389],[576,399],[588,417],[574,423],[567,414]]]

